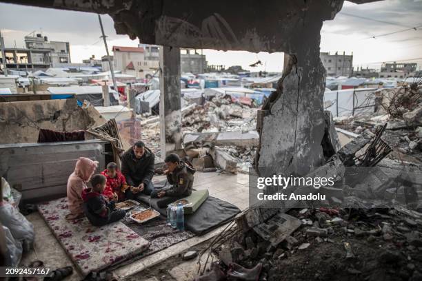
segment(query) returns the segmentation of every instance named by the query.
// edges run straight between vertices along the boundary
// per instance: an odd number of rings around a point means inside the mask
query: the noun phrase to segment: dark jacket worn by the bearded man
[[[145,147],[145,153],[139,159],[134,156],[133,148],[130,147],[121,156],[121,172],[126,177],[128,185],[137,187],[141,183],[148,185],[154,176],[154,154]]]

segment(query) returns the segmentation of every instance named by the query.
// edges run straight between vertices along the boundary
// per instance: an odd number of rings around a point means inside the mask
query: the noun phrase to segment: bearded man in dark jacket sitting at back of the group
[[[130,189],[125,191],[127,199],[134,199],[139,192],[150,195],[154,191],[154,154],[138,141],[121,157],[121,172],[126,177]]]

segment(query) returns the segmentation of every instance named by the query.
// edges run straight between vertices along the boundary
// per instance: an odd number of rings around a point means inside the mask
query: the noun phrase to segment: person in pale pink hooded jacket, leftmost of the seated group
[[[85,157],[80,157],[77,161],[74,172],[68,179],[68,208],[70,214],[66,216],[68,220],[74,220],[85,216],[83,214],[82,190],[86,189],[86,183],[90,181],[95,169],[98,167],[97,161],[92,161]]]

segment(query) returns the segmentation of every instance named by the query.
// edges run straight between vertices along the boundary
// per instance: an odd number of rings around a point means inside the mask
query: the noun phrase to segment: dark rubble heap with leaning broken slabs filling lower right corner
[[[236,227],[228,227],[210,246],[208,255],[219,261],[211,271],[201,271],[198,280],[422,280],[421,182],[405,173],[399,186],[388,177],[399,178],[394,173],[403,165],[405,171],[422,169],[383,159],[391,152],[382,139],[386,127],[365,129],[306,175],[332,176],[339,183],[319,189],[327,200],[277,202],[283,207],[264,201],[239,214]],[[358,181],[345,185],[348,169],[361,167],[377,170],[367,175],[352,170]],[[399,189],[404,189],[403,200],[394,197]],[[309,190],[297,187],[294,193]]]

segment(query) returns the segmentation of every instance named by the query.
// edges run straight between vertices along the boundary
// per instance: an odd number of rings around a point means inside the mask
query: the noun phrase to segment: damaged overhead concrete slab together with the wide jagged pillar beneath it
[[[118,33],[139,37],[142,43],[292,55],[277,92],[259,114],[261,142],[256,165],[269,168],[259,168],[261,176],[305,175],[324,163],[325,70],[319,59],[320,30],[323,21],[334,19],[343,1],[10,2],[108,13]]]

